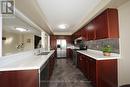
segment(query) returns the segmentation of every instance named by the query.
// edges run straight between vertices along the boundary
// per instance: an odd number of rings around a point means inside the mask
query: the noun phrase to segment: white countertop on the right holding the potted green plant
[[[120,55],[116,53],[111,53],[111,56],[104,56],[101,51],[97,50],[77,50],[77,52],[89,56],[95,60],[110,60],[110,59],[119,59]]]

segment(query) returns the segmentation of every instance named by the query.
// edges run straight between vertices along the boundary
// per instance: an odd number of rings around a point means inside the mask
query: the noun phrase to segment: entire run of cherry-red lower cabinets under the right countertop
[[[77,52],[77,66],[94,87],[118,87],[117,60],[95,60]]]

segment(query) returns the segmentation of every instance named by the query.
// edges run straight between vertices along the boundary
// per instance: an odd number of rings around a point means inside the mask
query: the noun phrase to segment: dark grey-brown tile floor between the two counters
[[[57,59],[49,87],[92,87],[71,61]]]

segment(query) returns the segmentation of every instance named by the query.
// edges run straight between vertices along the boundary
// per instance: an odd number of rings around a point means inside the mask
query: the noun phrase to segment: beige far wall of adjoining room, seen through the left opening
[[[4,30],[2,33],[2,36],[6,37],[6,40],[2,41],[2,56],[12,55],[18,52],[34,49],[34,34],[16,33]],[[24,43],[23,48],[17,49],[17,46],[21,43]]]

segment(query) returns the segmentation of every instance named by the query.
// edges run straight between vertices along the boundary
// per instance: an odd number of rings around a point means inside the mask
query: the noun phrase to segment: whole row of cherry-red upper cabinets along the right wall
[[[73,39],[83,37],[85,40],[119,38],[117,9],[106,9],[72,36]]]

